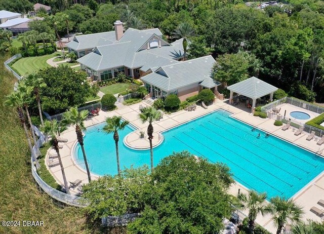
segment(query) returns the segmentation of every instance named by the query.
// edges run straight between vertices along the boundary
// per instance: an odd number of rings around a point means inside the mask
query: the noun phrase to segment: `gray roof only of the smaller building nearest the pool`
[[[219,82],[211,78],[214,64],[214,58],[208,55],[185,62],[161,66],[155,72],[141,77],[141,80],[165,91],[198,83],[206,88],[212,88],[220,85]]]

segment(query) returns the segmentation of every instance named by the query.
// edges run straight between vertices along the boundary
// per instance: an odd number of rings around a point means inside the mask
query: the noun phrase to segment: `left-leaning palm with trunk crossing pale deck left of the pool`
[[[63,132],[64,130],[66,130],[66,127],[62,127],[60,126],[60,124],[56,121],[46,121],[44,123],[44,125],[41,127],[41,130],[52,136],[51,140],[50,140],[50,144],[51,146],[54,147],[56,153],[57,153],[57,158],[59,160],[60,163],[60,167],[61,167],[61,172],[62,172],[62,177],[63,177],[63,181],[64,181],[64,187],[65,187],[65,191],[67,194],[70,194],[70,190],[69,190],[69,186],[67,184],[67,180],[66,180],[66,176],[65,176],[65,172],[64,172],[64,167],[62,164],[62,160],[61,160],[61,154],[60,154],[60,149],[59,149],[59,141],[57,139],[57,134],[60,132]]]

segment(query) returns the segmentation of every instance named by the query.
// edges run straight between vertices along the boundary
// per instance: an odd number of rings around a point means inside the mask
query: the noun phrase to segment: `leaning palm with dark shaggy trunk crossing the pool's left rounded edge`
[[[89,114],[88,110],[82,110],[79,112],[77,108],[71,107],[70,110],[67,110],[65,113],[63,113],[63,123],[66,123],[67,125],[75,126],[76,138],[82,149],[83,159],[85,161],[86,170],[88,174],[88,180],[90,182],[91,175],[88,166],[87,155],[85,151],[85,145],[84,145],[84,139],[82,133],[82,130],[86,129],[84,121],[87,119],[88,114]]]

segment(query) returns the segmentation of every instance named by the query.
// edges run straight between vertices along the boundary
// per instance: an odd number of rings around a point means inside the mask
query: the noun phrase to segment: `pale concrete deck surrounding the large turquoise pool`
[[[139,139],[139,131],[145,132],[145,138],[147,138],[146,134],[146,128],[148,124],[142,124],[139,120],[138,114],[139,111],[139,105],[143,103],[137,103],[131,106],[124,106],[120,109],[116,109],[110,112],[100,111],[100,115],[94,116],[92,119],[87,120],[85,122],[86,127],[104,122],[107,117],[111,117],[113,115],[120,115],[125,120],[128,120],[131,122],[133,126],[138,128],[135,133],[132,134],[132,138],[130,142],[133,145],[137,145],[139,147],[145,147],[148,144],[147,139]],[[179,124],[185,123],[187,121],[190,121],[192,119],[198,118],[201,115],[205,115],[207,113],[210,113],[216,109],[222,108],[224,110],[230,111],[233,114],[231,115],[233,118],[246,122],[247,124],[250,124],[258,129],[261,129],[263,131],[266,131],[270,134],[273,134],[277,137],[280,137],[284,140],[287,140],[293,144],[299,145],[301,147],[304,147],[305,149],[308,149],[310,151],[313,151],[314,153],[320,154],[322,157],[324,157],[324,144],[319,146],[317,145],[317,139],[318,137],[315,137],[311,141],[307,141],[306,137],[308,134],[303,133],[299,136],[294,135],[294,128],[289,128],[287,131],[282,131],[281,127],[276,127],[273,125],[274,120],[273,119],[261,119],[259,117],[253,116],[252,113],[247,112],[244,109],[237,108],[235,106],[227,104],[227,101],[220,101],[217,100],[212,105],[208,106],[208,109],[204,109],[200,106],[197,106],[195,111],[186,111],[181,110],[176,113],[166,114],[164,113],[163,119],[160,121],[156,121],[153,124],[155,137],[153,144],[158,143],[158,132],[161,132],[163,130],[172,128],[174,126],[177,126]],[[286,108],[286,107],[285,107]],[[287,107],[288,108],[288,107]],[[248,110],[248,109],[247,109]],[[281,108],[280,112],[283,110]],[[294,110],[298,110],[298,107],[294,108]],[[303,110],[305,111],[305,110]],[[288,111],[287,111],[288,112]],[[306,111],[305,111],[306,112]],[[308,112],[307,112],[308,113]],[[287,114],[286,114],[287,115]],[[87,134],[87,133],[86,133]],[[61,157],[62,157],[62,163],[65,168],[65,174],[68,181],[74,181],[76,179],[82,180],[83,184],[88,182],[86,171],[79,167],[79,165],[76,165],[74,162],[74,159],[72,157],[73,154],[73,148],[74,145],[77,143],[76,141],[76,134],[75,129],[73,127],[69,127],[68,130],[66,130],[63,134],[61,134],[61,137],[69,139],[67,143],[60,143],[63,145],[63,148],[60,149]],[[122,144],[123,142],[120,140],[119,144]],[[49,149],[50,152],[54,152],[53,149]],[[46,160],[46,165],[48,167],[48,158]],[[63,184],[63,179],[61,175],[61,170],[59,165],[56,165],[54,167],[51,167],[48,169],[54,176],[54,178],[57,180],[59,184]],[[98,175],[92,175],[93,179],[97,179]],[[242,186],[239,183],[235,183],[231,186],[229,192],[233,194],[234,196],[237,195],[237,191],[240,189],[241,192],[247,192],[248,189],[244,186]],[[70,189],[72,194],[77,194],[79,191],[75,188]],[[306,221],[306,219],[313,219],[316,221],[322,221],[321,218],[310,212],[310,208],[315,206],[319,209],[321,207],[317,205],[317,201],[319,199],[323,199],[322,194],[324,194],[324,172],[322,172],[320,175],[318,175],[315,179],[313,179],[309,184],[307,184],[303,189],[301,189],[298,193],[296,193],[293,196],[293,199],[296,201],[297,204],[304,207],[304,217],[303,219]],[[247,213],[247,211],[245,211]],[[275,232],[275,227],[272,224],[272,221],[269,216],[258,216],[257,222],[267,228],[271,232]]]

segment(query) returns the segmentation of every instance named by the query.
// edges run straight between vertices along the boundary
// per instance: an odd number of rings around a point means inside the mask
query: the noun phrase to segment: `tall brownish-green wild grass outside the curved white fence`
[[[0,233],[100,233],[87,223],[82,209],[60,208],[36,188],[24,130],[15,109],[3,105],[16,82],[3,65],[9,57],[0,56],[0,220],[42,220],[44,226],[0,226]]]

